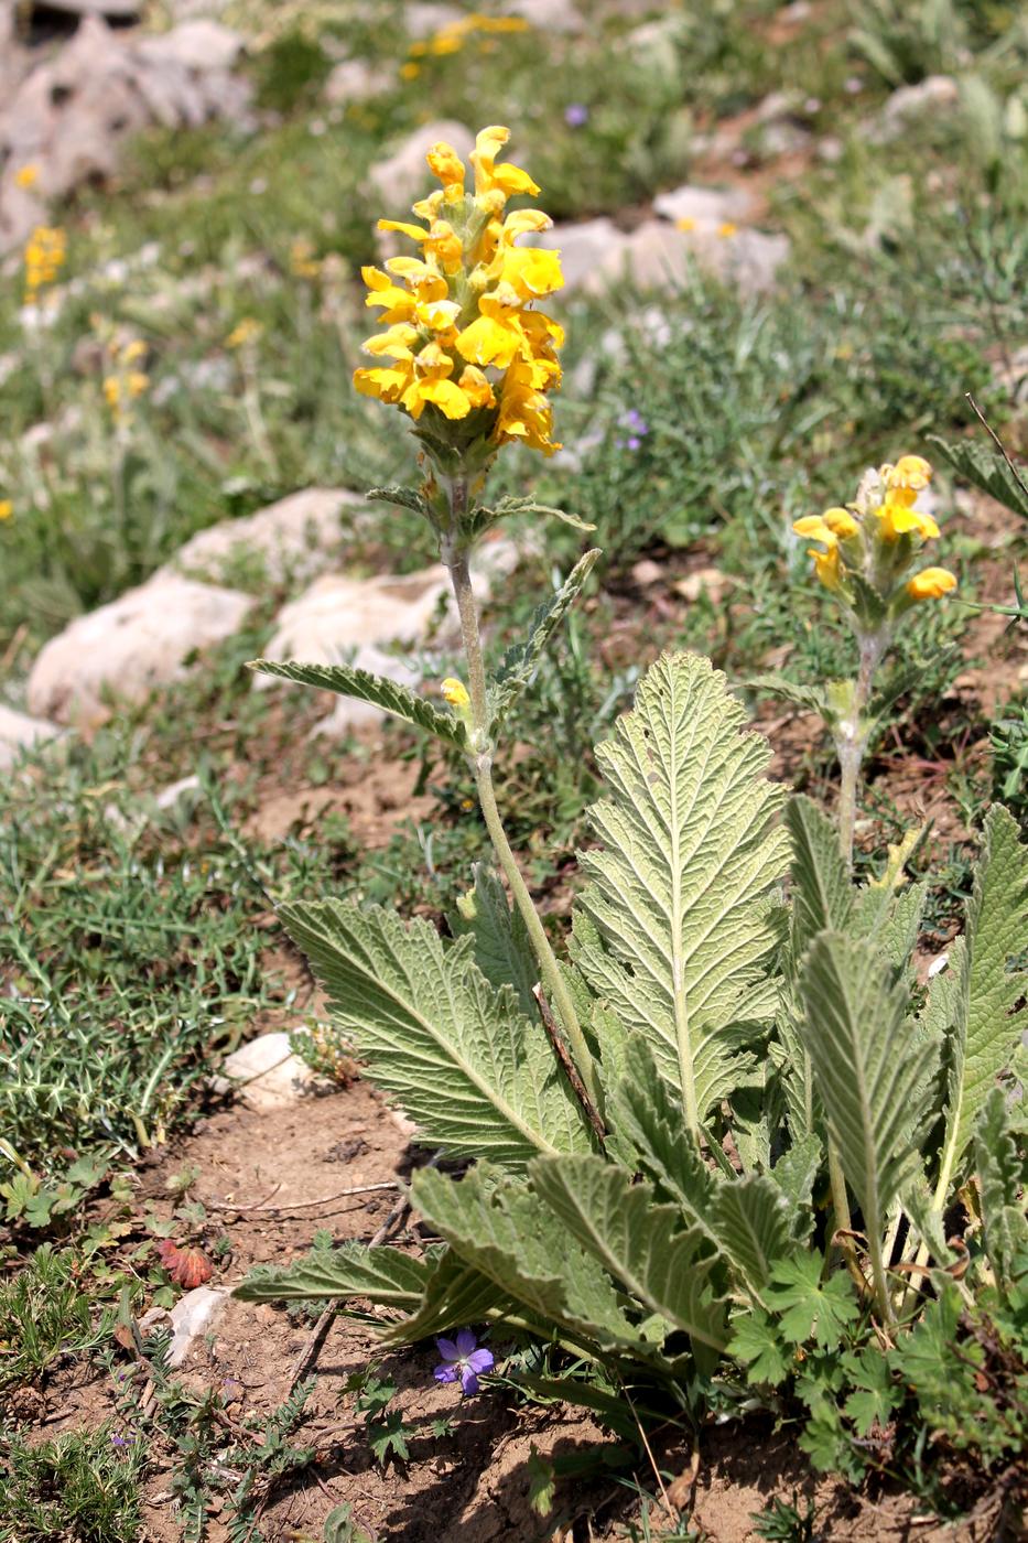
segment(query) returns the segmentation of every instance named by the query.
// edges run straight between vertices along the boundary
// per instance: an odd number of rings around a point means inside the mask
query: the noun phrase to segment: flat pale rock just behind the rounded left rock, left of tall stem
[[[366,500],[344,488],[304,488],[256,514],[198,531],[159,572],[219,580],[233,560],[259,557],[273,583],[310,579],[340,545],[340,515],[347,506],[363,508]]]

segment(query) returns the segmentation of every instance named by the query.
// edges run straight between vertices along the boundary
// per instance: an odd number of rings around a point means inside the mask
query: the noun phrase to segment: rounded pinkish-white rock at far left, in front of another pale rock
[[[130,701],[174,680],[188,654],[238,631],[252,597],[162,574],[99,611],[76,617],[32,665],[28,705],[59,722],[107,716],[105,688]]]

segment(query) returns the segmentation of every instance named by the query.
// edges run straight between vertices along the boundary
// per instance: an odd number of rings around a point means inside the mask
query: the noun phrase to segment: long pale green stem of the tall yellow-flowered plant
[[[582,1025],[579,1023],[571,992],[568,991],[565,978],[560,972],[560,964],[557,963],[557,957],[553,952],[550,938],[546,937],[546,929],[539,918],[539,912],[536,910],[533,898],[528,893],[528,886],[522,878],[511,844],[506,839],[506,832],[503,830],[503,821],[500,819],[500,810],[495,801],[495,788],[492,785],[492,745],[489,742],[489,704],[486,696],[485,663],[482,659],[478,609],[471,588],[468,551],[460,539],[460,517],[468,509],[468,480],[465,477],[452,478],[449,501],[452,526],[451,531],[441,539],[440,554],[443,563],[449,569],[449,577],[454,586],[457,613],[460,616],[460,634],[465,645],[465,657],[468,660],[468,694],[471,697],[471,764],[475,775],[478,804],[482,805],[482,816],[485,819],[486,830],[489,832],[489,839],[492,841],[492,850],[495,852],[497,863],[500,864],[503,876],[511,887],[514,904],[517,906],[525,923],[543,983],[556,1009],[557,1018],[560,1020],[560,1028],[568,1037],[571,1054],[577,1063],[582,1082],[585,1083],[593,1105],[602,1113],[604,1099],[596,1077],[593,1054],[585,1040],[585,1034],[582,1032]]]

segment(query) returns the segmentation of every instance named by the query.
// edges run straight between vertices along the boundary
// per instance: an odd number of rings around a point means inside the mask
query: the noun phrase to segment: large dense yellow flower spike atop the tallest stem
[[[414,205],[421,224],[378,222],[417,242],[420,256],[361,270],[384,327],[364,352],[384,363],[358,369],[353,384],[403,409],[445,472],[483,471],[508,441],[560,449],[548,393],[560,384],[563,330],[536,309],[563,285],[560,258],[517,244],[551,219],[539,208],[506,213],[509,198],[539,193],[526,171],[497,160],[508,139],[506,128],[483,128],[471,170],[451,145],[434,145],[428,164],[441,187]]]

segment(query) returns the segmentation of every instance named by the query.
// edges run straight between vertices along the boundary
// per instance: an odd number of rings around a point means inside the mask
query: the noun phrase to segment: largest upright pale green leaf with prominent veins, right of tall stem
[[[594,994],[651,1046],[687,1125],[744,1085],[775,1014],[769,915],[789,838],[770,747],[742,733],[724,676],[695,654],[664,654],[614,739],[597,747],[610,796],[593,805],[600,847],[587,878],[574,955]]]

